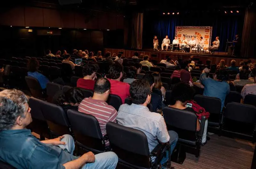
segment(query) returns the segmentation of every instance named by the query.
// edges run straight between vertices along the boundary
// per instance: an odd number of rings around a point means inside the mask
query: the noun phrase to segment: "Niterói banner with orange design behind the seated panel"
[[[204,48],[208,48],[211,46],[211,38],[212,38],[212,27],[211,26],[176,26],[176,35],[181,42],[183,36],[189,40],[192,36],[196,39],[196,45],[200,37],[203,37],[204,40]]]

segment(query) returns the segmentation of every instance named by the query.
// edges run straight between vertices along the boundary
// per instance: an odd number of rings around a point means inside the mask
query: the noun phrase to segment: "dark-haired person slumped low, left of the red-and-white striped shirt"
[[[70,88],[61,94],[56,100],[57,104],[67,113],[68,109],[78,110],[79,103],[84,99],[84,94],[80,88]]]

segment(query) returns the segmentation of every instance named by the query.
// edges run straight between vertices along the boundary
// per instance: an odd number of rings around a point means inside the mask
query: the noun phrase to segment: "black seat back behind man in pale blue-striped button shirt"
[[[150,168],[148,140],[136,129],[108,122],[106,125],[112,150],[118,158],[132,165]]]

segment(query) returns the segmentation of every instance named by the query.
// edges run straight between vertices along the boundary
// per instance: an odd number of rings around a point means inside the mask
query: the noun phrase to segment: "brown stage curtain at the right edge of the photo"
[[[256,54],[256,12],[255,5],[251,9],[246,9],[244,17],[244,30],[242,37],[241,54],[245,58],[253,57]]]

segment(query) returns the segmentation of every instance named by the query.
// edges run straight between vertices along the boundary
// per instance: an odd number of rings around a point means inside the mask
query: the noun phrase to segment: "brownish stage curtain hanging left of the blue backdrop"
[[[143,13],[135,13],[132,24],[132,48],[142,49]]]

